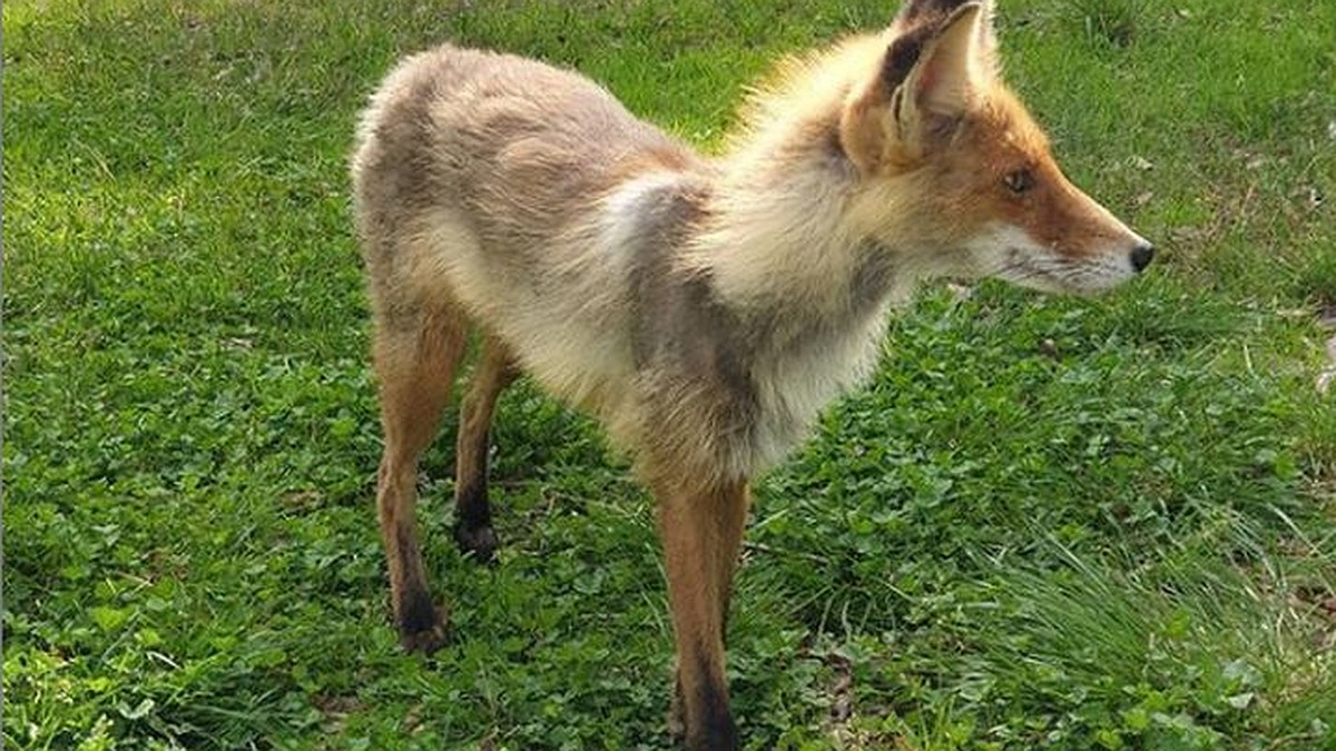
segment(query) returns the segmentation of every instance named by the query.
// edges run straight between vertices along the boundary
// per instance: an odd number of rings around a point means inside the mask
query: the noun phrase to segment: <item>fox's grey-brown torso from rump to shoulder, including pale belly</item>
[[[700,168],[581,76],[452,45],[409,57],[353,162],[373,302],[448,294],[550,390],[615,410],[632,373],[632,238],[615,235],[652,227],[609,226],[605,204],[636,203],[645,170]]]

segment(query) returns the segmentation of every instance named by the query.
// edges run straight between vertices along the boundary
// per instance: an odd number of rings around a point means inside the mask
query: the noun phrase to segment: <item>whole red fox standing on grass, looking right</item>
[[[387,73],[350,167],[405,649],[446,641],[415,480],[473,337],[456,544],[493,560],[489,433],[509,384],[593,416],[655,498],[669,726],[689,750],[737,748],[724,632],[752,478],[870,376],[892,309],[943,278],[1089,295],[1154,255],[1062,174],[1002,80],[994,15],[907,0],[882,31],[782,63],[717,155],[537,60],[446,43]]]

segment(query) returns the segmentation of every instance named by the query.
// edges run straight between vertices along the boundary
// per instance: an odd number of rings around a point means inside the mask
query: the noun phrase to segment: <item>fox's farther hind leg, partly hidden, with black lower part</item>
[[[497,536],[488,502],[488,445],[497,397],[518,374],[510,353],[494,337],[482,341],[473,382],[460,408],[454,452],[454,541],[460,551],[489,563]]]

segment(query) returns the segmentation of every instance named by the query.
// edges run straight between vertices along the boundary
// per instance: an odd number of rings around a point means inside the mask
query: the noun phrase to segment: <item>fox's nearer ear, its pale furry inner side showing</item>
[[[922,47],[918,61],[892,95],[902,140],[923,146],[965,115],[993,73],[991,21],[983,4],[955,9]]]

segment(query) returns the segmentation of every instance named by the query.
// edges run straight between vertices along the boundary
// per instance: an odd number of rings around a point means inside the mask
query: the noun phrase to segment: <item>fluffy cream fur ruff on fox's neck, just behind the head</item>
[[[834,132],[760,135],[719,164],[709,219],[688,253],[720,302],[743,318],[838,327],[907,301],[919,281],[937,275],[930,254],[875,243],[851,222],[858,175]],[[886,211],[894,222],[895,207]]]

